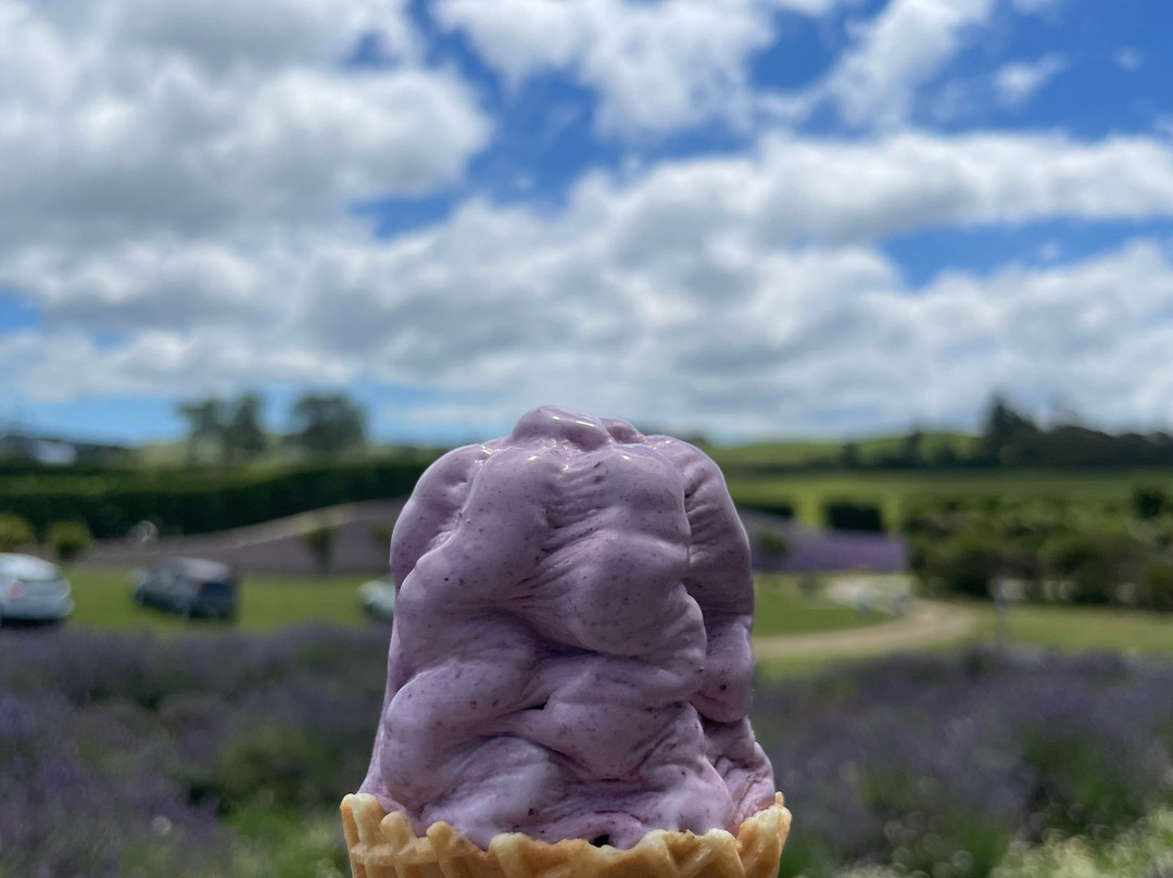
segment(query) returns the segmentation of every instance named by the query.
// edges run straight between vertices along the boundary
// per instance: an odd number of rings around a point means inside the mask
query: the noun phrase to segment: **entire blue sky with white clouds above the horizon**
[[[1166,0],[0,0],[0,419],[1173,424]]]

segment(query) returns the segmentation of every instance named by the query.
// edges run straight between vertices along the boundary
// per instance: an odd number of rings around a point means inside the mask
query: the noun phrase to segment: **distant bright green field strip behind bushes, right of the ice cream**
[[[910,498],[1062,498],[1127,504],[1138,486],[1173,488],[1173,468],[1138,470],[872,470],[796,472],[779,477],[732,478],[733,499],[743,505],[794,506],[800,521],[822,525],[828,500],[874,502],[896,529]]]

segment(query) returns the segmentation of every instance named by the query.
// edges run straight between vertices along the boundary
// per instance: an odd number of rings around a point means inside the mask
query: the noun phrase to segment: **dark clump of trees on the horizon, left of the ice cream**
[[[286,431],[264,427],[265,400],[257,393],[209,397],[178,407],[188,424],[188,464],[244,464],[274,448],[311,457],[339,454],[367,443],[366,411],[345,393],[305,393],[286,417]]]

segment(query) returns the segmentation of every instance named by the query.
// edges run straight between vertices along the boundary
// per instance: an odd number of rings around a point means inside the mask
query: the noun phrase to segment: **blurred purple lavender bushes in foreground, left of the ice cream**
[[[385,629],[0,635],[5,878],[236,874],[235,817],[337,820],[366,771]]]

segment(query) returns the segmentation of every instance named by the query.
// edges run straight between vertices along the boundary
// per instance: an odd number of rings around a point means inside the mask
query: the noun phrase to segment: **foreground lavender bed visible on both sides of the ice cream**
[[[0,876],[233,873],[239,815],[331,813],[361,778],[385,650],[4,632]],[[1016,835],[1107,838],[1173,799],[1167,668],[907,657],[761,688],[754,712],[796,815],[785,876],[984,876]]]

